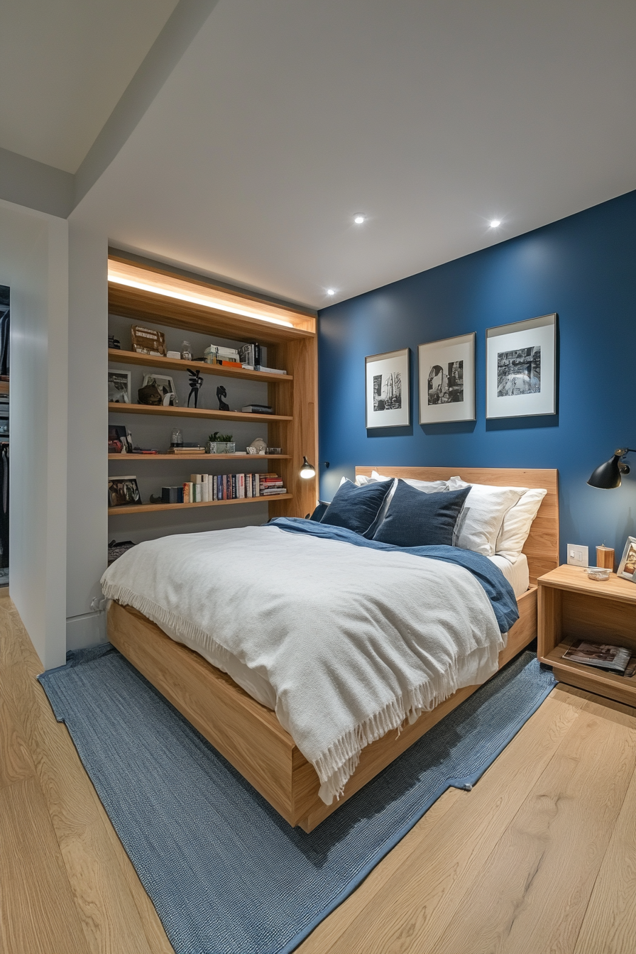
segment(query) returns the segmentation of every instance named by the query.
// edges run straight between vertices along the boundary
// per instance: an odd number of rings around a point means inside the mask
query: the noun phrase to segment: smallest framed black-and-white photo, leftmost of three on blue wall
[[[409,355],[402,348],[364,359],[367,427],[410,425]]]

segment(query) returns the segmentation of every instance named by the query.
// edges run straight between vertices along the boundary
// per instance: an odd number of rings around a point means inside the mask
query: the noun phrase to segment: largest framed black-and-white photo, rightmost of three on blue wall
[[[557,412],[557,316],[486,330],[486,418]]]

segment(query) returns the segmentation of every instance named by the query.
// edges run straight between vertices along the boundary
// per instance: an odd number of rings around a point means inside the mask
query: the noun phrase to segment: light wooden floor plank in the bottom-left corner
[[[0,949],[89,954],[35,778],[0,789]]]

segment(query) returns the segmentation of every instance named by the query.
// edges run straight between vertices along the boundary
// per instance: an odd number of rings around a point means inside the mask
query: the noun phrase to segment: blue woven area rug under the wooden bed
[[[555,684],[522,653],[306,835],[109,645],[39,678],[177,954],[294,950]]]

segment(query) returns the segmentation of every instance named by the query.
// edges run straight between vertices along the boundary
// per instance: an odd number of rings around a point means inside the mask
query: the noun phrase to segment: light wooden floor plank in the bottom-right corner
[[[636,950],[636,774],[631,778],[574,954]]]

